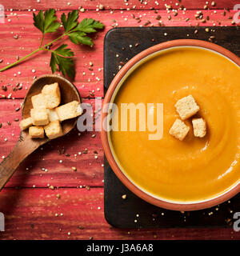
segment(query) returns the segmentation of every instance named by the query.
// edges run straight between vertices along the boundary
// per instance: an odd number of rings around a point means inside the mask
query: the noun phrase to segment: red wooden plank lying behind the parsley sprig
[[[14,12],[15,13],[15,12]],[[38,48],[41,33],[33,26],[32,14],[27,11],[14,13],[6,12],[8,17],[6,18],[6,24],[1,24],[0,30],[0,67],[6,66],[7,63],[16,61],[17,56],[22,58],[26,54]],[[204,18],[210,17],[210,20],[203,23],[200,22],[200,26],[232,26],[229,17],[233,16],[234,11],[226,12],[226,16],[223,16],[223,10],[217,10],[216,13],[212,10],[202,11]],[[58,12],[58,17],[62,12]],[[158,15],[162,17],[162,24],[165,26],[196,26],[199,20],[194,18],[196,10],[179,12],[178,16],[171,15],[169,20],[169,14],[166,11],[159,11],[155,14],[153,10],[148,10],[144,13],[142,11],[114,11],[110,12],[86,12],[81,14],[81,18],[91,17],[103,21],[106,25],[106,29],[96,34],[97,38],[94,39],[94,48],[88,46],[76,46],[69,42],[69,39],[64,40],[65,43],[69,43],[70,48],[75,53],[76,63],[76,78],[74,84],[81,91],[82,97],[86,98],[90,96],[90,92],[94,91],[94,96],[103,97],[103,38],[108,30],[114,26],[158,26]],[[133,18],[133,15],[135,18]],[[141,18],[140,18],[141,17]],[[10,22],[7,22],[10,18]],[[140,19],[136,19],[140,18]],[[186,18],[190,18],[186,22]],[[138,22],[138,21],[141,22]],[[18,39],[14,36],[18,35]],[[187,34],[186,34],[187,38]],[[197,35],[196,35],[197,38]],[[53,39],[50,35],[46,35],[46,42]],[[166,38],[167,40],[167,38]],[[118,43],[121,43],[119,40]],[[34,76],[40,76],[42,74],[50,74],[50,55],[46,52],[39,53],[26,62],[15,66],[10,70],[6,70],[0,74],[0,95],[9,98],[24,98],[26,90],[29,88],[30,83],[33,81]],[[93,62],[94,66],[89,70],[89,62]],[[33,73],[32,70],[35,70]],[[20,72],[20,73],[18,73]],[[20,83],[22,90],[14,91],[16,85]],[[1,90],[2,86],[7,86],[7,91]]]

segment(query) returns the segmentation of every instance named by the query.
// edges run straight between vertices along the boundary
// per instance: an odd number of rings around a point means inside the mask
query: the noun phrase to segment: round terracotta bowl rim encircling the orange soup
[[[192,39],[179,39],[179,40],[174,40],[169,42],[163,42],[156,46],[152,46],[146,50],[143,50],[140,54],[130,59],[130,61],[127,62],[126,65],[122,67],[122,69],[115,76],[114,80],[111,82],[110,87],[106,92],[106,96],[103,101],[103,106],[107,103],[113,102],[112,98],[114,98],[114,94],[118,93],[118,90],[117,90],[119,89],[117,88],[119,87],[118,84],[122,81],[122,78],[126,78],[131,73],[130,69],[133,66],[138,66],[139,62],[141,63],[142,59],[147,58],[150,54],[154,54],[161,50],[167,50],[169,48],[178,47],[178,46],[197,46],[206,50],[213,50],[214,52],[217,52],[218,54],[222,54],[226,58],[229,58],[232,62],[240,66],[240,58],[238,58],[238,56],[231,53],[229,50],[226,50],[222,46],[218,46],[214,43],[205,42],[201,40],[192,40]],[[132,70],[134,70],[134,68]],[[106,116],[107,116],[107,113],[104,113],[104,111],[102,111],[102,120],[106,120]],[[114,173],[129,190],[131,190],[134,194],[136,194],[139,198],[142,198],[146,202],[150,202],[155,206],[159,206],[169,210],[181,210],[181,211],[182,210],[200,210],[200,209],[209,208],[209,207],[218,205],[222,202],[225,202],[226,200],[232,198],[235,194],[238,194],[238,192],[240,192],[240,183],[238,183],[237,186],[234,186],[224,194],[219,195],[217,198],[208,199],[203,202],[174,203],[174,202],[166,202],[164,199],[151,196],[150,194],[141,190],[133,182],[131,182],[130,179],[127,178],[126,175],[119,168],[118,162],[115,161],[114,155],[110,149],[108,132],[106,132],[106,130],[104,130],[103,127],[106,127],[106,123],[104,122],[102,122],[102,132],[101,132],[102,145],[106,154],[106,158],[110,163],[111,168],[114,170]],[[127,173],[127,170],[126,170],[126,173]]]

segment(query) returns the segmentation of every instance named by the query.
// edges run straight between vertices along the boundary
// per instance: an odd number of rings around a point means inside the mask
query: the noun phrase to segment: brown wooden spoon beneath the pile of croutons
[[[22,105],[22,118],[30,117],[30,110],[33,108],[31,97],[40,94],[42,87],[51,83],[58,82],[61,90],[61,105],[72,101],[81,102],[81,96],[77,88],[66,78],[62,78],[54,74],[46,74],[34,80],[30,86],[26,98]],[[62,122],[63,135],[67,134],[74,128],[78,118],[72,118]],[[5,186],[6,182],[17,170],[20,163],[29,156],[34,150],[37,150],[39,146],[42,146],[46,142],[50,142],[49,138],[30,138],[28,130],[23,130],[20,134],[18,142],[14,147],[14,150],[0,163],[0,191]]]

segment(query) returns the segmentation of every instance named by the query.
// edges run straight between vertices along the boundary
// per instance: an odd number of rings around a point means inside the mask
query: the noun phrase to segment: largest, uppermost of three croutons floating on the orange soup
[[[192,95],[179,99],[178,102],[175,104],[175,108],[182,120],[190,118],[199,110],[199,106],[195,102]]]

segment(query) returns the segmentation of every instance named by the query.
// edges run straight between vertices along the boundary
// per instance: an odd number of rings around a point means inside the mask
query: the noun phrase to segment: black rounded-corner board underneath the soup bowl
[[[104,42],[104,88],[134,55],[160,42],[191,38],[214,42],[240,56],[240,30],[232,27],[122,27],[110,30]],[[136,45],[137,44],[137,45]],[[118,54],[118,55],[117,55]],[[118,228],[232,227],[233,214],[240,211],[240,194],[229,202],[206,210],[178,212],[153,206],[138,198],[118,180],[105,158],[104,212],[106,221]],[[126,199],[122,199],[126,194]]]

